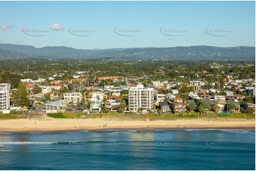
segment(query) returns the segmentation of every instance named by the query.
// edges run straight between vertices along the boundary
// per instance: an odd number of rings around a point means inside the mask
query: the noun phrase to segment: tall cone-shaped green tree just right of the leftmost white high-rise
[[[30,100],[28,98],[28,91],[24,83],[20,81],[18,83],[18,90],[13,93],[13,103],[16,105],[20,105],[21,107],[28,107],[30,104]]]

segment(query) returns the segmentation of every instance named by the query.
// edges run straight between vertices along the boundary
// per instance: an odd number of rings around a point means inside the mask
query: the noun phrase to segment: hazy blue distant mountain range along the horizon
[[[116,49],[74,49],[0,44],[0,59],[121,59],[121,60],[255,60],[255,47],[145,47]]]

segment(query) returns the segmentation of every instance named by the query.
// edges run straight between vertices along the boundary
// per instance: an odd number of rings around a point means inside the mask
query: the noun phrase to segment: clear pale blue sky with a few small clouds
[[[255,47],[255,1],[0,1],[0,43]]]

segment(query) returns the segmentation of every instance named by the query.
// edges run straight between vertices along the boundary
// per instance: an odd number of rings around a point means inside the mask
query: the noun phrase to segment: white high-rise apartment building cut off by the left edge
[[[0,110],[9,110],[11,84],[0,84]]]

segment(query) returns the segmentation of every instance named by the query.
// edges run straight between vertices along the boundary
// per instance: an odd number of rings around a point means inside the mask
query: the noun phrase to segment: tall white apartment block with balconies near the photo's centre
[[[140,108],[151,110],[154,105],[153,88],[143,88],[143,86],[130,88],[128,97],[130,112],[138,112]]]

